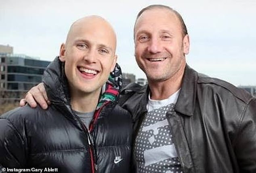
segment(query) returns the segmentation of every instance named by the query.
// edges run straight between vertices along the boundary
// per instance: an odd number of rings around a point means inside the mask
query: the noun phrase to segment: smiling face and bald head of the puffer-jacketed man
[[[115,67],[115,48],[115,33],[101,17],[88,16],[73,23],[60,50],[71,97],[99,95]]]

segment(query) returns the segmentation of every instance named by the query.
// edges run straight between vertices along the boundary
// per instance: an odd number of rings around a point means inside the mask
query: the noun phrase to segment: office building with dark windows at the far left
[[[49,61],[29,56],[0,52],[0,100],[3,103],[19,101],[34,85],[42,81]]]

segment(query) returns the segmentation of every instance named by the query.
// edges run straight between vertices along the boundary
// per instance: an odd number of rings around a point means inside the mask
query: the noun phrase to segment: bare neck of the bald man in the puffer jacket
[[[73,110],[78,112],[92,112],[95,111],[99,96],[101,93],[101,89],[99,89],[96,93],[81,93],[81,92],[73,92],[71,93],[71,107]]]

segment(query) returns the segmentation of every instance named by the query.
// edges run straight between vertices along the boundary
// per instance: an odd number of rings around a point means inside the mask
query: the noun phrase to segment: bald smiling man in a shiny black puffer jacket
[[[0,116],[0,170],[130,172],[132,122],[117,105],[122,73],[115,49],[115,32],[105,19],[86,16],[73,23],[44,72],[52,104]]]

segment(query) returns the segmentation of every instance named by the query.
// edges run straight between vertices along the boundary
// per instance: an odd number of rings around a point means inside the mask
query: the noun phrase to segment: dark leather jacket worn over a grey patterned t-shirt
[[[131,84],[123,93],[135,139],[149,89]],[[186,66],[175,111],[166,116],[184,173],[256,173],[256,98]]]

